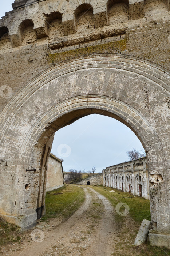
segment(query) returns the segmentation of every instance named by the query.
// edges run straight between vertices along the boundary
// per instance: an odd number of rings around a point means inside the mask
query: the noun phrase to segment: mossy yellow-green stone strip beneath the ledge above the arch
[[[121,53],[126,50],[126,39],[110,42],[102,45],[95,45],[86,48],[69,50],[49,55],[49,63],[58,63],[60,61],[69,60],[75,57],[87,56],[97,53]]]

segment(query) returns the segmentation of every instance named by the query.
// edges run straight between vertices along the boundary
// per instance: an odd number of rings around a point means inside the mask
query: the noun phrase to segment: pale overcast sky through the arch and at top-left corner
[[[11,11],[14,0],[1,1],[0,16]],[[64,159],[63,169],[102,172],[107,167],[128,161],[126,152],[142,149],[137,136],[126,125],[106,116],[90,115],[60,129],[55,134],[52,152]]]

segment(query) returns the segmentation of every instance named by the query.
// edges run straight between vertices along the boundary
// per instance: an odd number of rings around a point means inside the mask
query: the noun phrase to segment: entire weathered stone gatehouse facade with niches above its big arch
[[[35,225],[55,131],[99,113],[141,140],[152,227],[169,234],[169,1],[26,2],[0,19],[0,214]]]

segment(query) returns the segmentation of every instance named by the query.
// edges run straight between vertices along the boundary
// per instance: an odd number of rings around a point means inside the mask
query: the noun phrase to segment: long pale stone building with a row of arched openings
[[[133,195],[149,199],[146,157],[107,167],[102,173],[104,186],[121,189]],[[150,182],[152,181],[150,180]],[[162,182],[162,180],[159,182]]]

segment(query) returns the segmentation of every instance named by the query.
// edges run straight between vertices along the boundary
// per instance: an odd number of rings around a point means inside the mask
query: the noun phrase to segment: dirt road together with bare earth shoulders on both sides
[[[67,221],[60,217],[50,219],[48,225],[40,222],[35,230],[24,233],[22,243],[3,248],[2,255],[136,255],[127,249],[134,243],[135,222],[129,216],[123,223],[116,221],[117,213],[106,197],[91,187],[80,187],[85,200]]]

